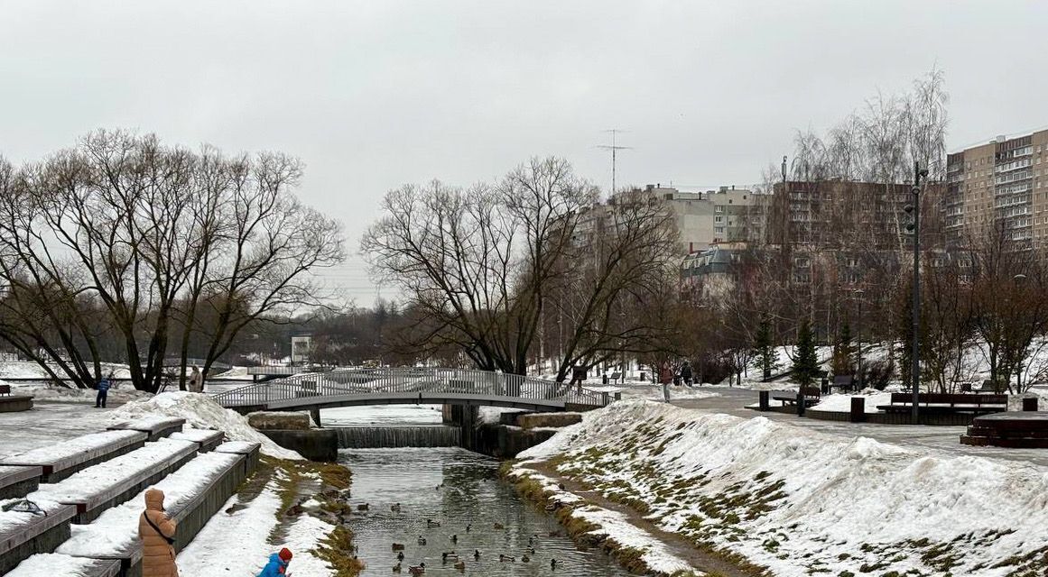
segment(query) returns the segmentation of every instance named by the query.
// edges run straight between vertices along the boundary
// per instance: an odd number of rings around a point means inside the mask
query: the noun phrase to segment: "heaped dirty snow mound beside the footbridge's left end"
[[[231,441],[254,441],[262,444],[262,453],[281,459],[302,459],[293,450],[285,449],[268,437],[252,428],[247,418],[235,410],[222,408],[206,395],[176,391],[161,393],[148,400],[134,401],[113,410],[114,422],[138,417],[179,417],[195,428],[212,428],[225,432]]]

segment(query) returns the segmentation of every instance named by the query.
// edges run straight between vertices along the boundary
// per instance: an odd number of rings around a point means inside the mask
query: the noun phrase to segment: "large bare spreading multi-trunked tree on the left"
[[[309,271],[343,258],[339,225],[293,198],[300,175],[283,155],[228,160],[107,131],[24,168],[0,199],[3,280],[21,298],[5,316],[26,319],[31,302],[46,313],[57,297],[57,310],[87,299],[106,314],[73,310],[58,335],[29,325],[0,336],[84,386],[101,376],[93,324],[111,327],[135,386],[156,391],[179,325],[184,373],[205,305],[216,311],[206,372],[252,320],[314,302]]]

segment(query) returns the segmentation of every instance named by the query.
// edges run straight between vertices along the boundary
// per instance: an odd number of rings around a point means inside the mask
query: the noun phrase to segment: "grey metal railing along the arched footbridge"
[[[302,406],[308,406],[323,403],[323,397],[367,396],[377,400],[403,398],[405,394],[419,394],[421,397],[454,394],[458,398],[478,399],[508,397],[521,402],[534,401],[536,404],[565,403],[591,407],[605,406],[610,401],[607,393],[523,375],[410,367],[303,373],[241,386],[216,394],[213,398],[225,407],[266,406],[291,400],[302,401]]]

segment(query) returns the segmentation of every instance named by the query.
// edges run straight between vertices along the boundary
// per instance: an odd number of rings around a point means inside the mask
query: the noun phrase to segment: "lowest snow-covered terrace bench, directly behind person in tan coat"
[[[241,454],[206,452],[153,485],[163,491],[165,509],[178,524],[176,551],[188,546],[236,492],[238,479],[243,479],[243,460]],[[103,512],[93,523],[72,526],[69,539],[54,552],[91,559],[115,559],[121,563],[122,576],[137,574],[141,561],[138,515],[144,506],[145,492]]]

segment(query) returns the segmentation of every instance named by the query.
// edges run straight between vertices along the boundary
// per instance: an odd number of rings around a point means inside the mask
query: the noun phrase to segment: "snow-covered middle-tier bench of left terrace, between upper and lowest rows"
[[[106,509],[128,501],[189,463],[196,457],[198,447],[190,441],[168,439],[147,443],[140,449],[84,469],[61,483],[43,485],[28,498],[73,505],[77,517],[72,523],[91,523]]]

